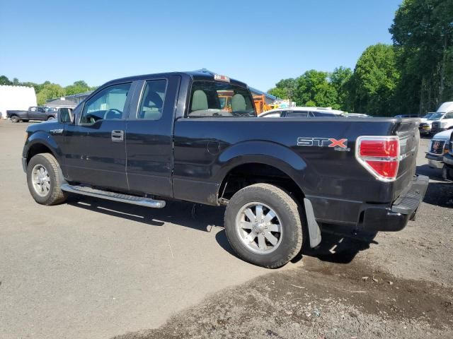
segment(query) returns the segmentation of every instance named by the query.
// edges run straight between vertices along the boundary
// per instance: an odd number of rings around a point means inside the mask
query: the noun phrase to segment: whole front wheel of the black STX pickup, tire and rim
[[[50,153],[37,154],[28,162],[28,190],[37,203],[56,205],[64,202],[67,195],[61,189],[63,182],[62,169]]]

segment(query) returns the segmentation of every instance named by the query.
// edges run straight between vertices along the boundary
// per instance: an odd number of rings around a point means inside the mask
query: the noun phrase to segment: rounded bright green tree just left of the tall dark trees
[[[365,49],[351,79],[355,112],[394,114],[392,103],[398,79],[394,47],[375,44]]]

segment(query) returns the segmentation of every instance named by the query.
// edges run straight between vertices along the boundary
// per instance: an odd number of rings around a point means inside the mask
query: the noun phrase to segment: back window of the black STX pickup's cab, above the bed
[[[256,117],[247,88],[217,81],[194,81],[188,117]]]

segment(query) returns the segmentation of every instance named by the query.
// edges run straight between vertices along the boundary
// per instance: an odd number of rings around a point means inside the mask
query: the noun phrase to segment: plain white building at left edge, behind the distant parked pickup
[[[1,119],[6,119],[7,110],[26,110],[30,106],[36,106],[35,88],[25,86],[0,85]]]

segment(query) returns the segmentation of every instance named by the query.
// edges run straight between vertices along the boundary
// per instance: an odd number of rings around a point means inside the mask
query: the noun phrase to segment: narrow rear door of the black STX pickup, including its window
[[[173,196],[173,120],[179,76],[137,85],[127,121],[127,180],[136,193]]]

